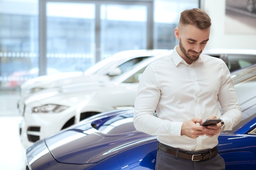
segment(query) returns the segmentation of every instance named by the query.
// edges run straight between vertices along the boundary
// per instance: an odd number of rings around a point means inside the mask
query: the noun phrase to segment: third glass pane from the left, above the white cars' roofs
[[[146,49],[147,7],[101,4],[101,60],[114,53]]]

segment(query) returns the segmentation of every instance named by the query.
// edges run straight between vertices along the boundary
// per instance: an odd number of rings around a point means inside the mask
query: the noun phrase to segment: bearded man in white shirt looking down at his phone
[[[225,170],[216,147],[219,132],[239,123],[241,108],[225,62],[202,54],[210,26],[201,9],[183,11],[175,28],[179,45],[141,76],[134,125],[157,136],[156,170]],[[217,118],[222,122],[200,126]]]

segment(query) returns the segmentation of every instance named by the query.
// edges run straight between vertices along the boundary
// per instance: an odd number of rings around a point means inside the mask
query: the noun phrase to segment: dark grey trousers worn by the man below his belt
[[[205,161],[177,158],[157,148],[155,170],[225,170],[225,161],[219,154]]]

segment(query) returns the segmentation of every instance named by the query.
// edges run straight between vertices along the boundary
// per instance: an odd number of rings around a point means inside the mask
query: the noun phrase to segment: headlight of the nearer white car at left
[[[68,106],[61,106],[58,104],[46,104],[44,106],[32,108],[32,113],[59,113],[67,108]]]

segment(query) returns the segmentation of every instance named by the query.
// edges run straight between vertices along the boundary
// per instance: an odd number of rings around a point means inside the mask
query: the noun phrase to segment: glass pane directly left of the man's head
[[[199,0],[155,0],[154,5],[154,48],[173,49],[178,41],[174,29],[185,9],[199,7]]]

